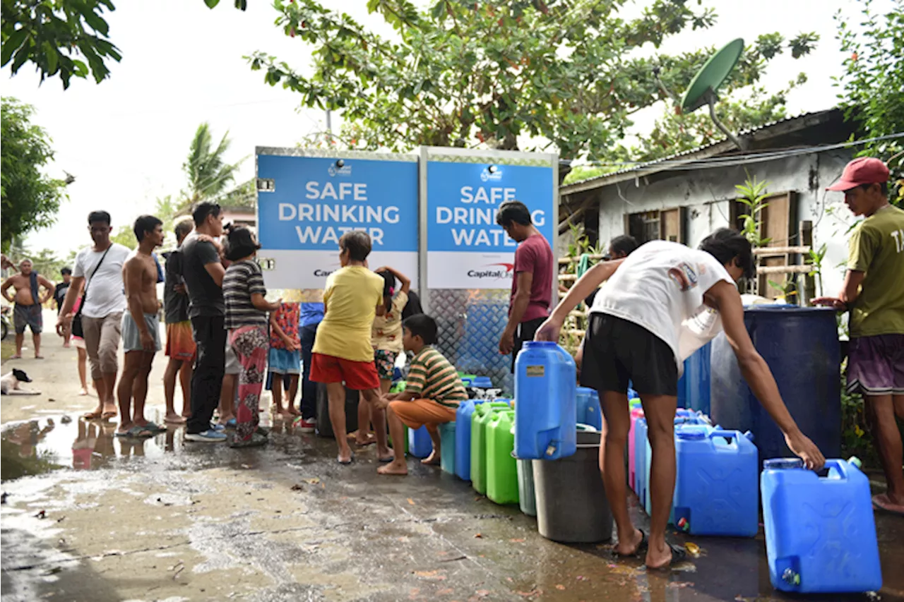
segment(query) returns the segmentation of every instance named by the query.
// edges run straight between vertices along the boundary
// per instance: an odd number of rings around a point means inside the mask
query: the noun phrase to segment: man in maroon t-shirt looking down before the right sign
[[[512,353],[514,372],[514,360],[522,344],[533,340],[537,329],[550,315],[555,259],[550,243],[533,226],[531,212],[523,202],[507,201],[499,205],[496,223],[518,243],[514,252],[509,320],[499,340],[499,352]]]

